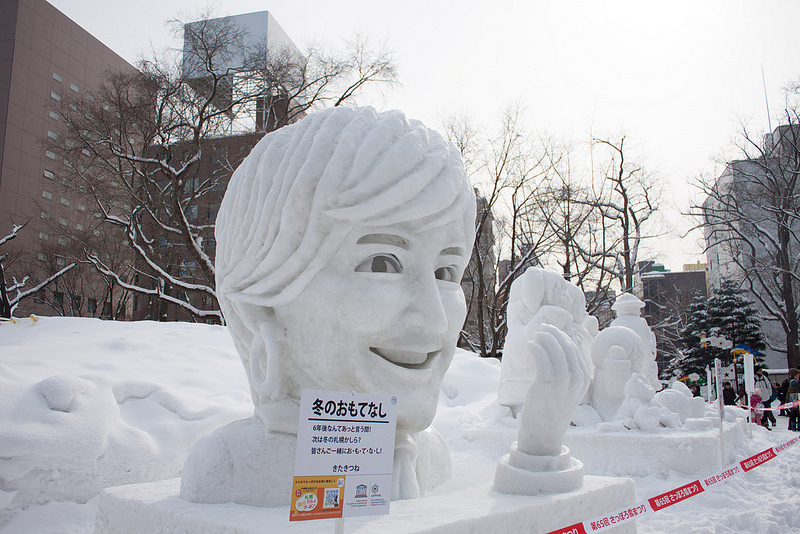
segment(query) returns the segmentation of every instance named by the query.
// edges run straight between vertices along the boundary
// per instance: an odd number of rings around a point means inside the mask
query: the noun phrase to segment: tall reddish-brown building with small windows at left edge
[[[7,278],[30,276],[27,287],[66,264],[69,243],[53,224],[82,231],[76,225],[83,224],[81,207],[87,210],[64,192],[64,162],[44,143],[60,135],[63,119],[53,104],[96,88],[107,70],[133,67],[45,0],[0,0],[0,236],[27,223],[3,251]],[[48,287],[46,298],[98,315],[110,306],[107,288],[85,290],[75,299]],[[26,300],[16,314],[52,314],[44,298]]]

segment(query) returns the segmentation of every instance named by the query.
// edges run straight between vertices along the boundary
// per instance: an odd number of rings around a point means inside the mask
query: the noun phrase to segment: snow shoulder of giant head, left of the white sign
[[[199,440],[181,477],[182,499],[251,506],[289,504],[297,436],[268,432],[255,417]]]

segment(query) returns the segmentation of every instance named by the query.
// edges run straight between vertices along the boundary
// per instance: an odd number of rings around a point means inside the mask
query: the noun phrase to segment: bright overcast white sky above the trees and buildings
[[[48,1],[131,62],[177,44],[164,21],[204,5]],[[340,46],[356,32],[385,41],[402,86],[362,103],[429,126],[464,112],[493,128],[521,101],[542,135],[580,145],[624,133],[630,156],[669,186],[662,205],[675,233],[686,227],[675,214],[688,206],[689,182],[738,156],[741,122],[767,130],[764,87],[774,126],[783,87],[800,78],[795,0],[226,0],[216,12],[262,10],[301,47]],[[702,259],[696,241],[660,239],[651,252],[680,270]]]

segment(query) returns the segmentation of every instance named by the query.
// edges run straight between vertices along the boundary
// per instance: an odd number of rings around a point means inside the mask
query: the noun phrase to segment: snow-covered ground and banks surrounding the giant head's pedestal
[[[441,491],[465,477],[491,480],[507,452],[515,420],[495,402],[499,376],[494,361],[456,353],[434,421],[455,473]],[[179,476],[196,439],[251,412],[244,370],[222,327],[73,318],[2,323],[0,533],[90,533],[102,488]],[[737,458],[796,435],[786,430],[786,418],[778,422],[774,432],[754,428]],[[638,530],[800,532],[798,459],[800,446],[792,447],[639,519]],[[691,476],[654,469],[634,479],[637,498],[718,470],[709,465]]]

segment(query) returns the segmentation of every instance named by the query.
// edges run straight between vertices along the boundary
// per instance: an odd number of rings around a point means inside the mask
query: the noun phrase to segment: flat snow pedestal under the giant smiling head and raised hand
[[[261,534],[331,532],[333,520],[289,522],[289,508],[195,504],[178,497],[179,479],[118,486],[99,499],[96,534]],[[287,496],[287,500],[289,497]],[[556,495],[504,495],[488,484],[420,499],[392,501],[391,513],[346,519],[348,533],[547,533],[634,504],[630,479],[584,477]],[[635,522],[608,529],[635,533]]]

